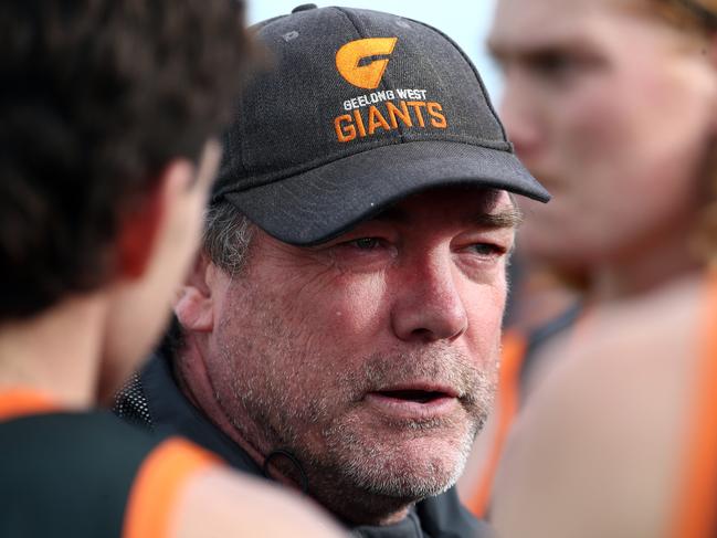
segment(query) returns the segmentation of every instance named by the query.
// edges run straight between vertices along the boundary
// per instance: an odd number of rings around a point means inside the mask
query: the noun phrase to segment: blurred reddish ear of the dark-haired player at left
[[[117,273],[136,279],[145,274],[157,246],[169,209],[179,202],[194,180],[189,160],[176,159],[159,173],[156,186],[120,222],[117,238]]]

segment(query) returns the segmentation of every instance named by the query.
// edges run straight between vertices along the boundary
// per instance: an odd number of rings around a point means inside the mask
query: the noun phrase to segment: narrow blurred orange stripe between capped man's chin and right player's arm
[[[528,341],[518,331],[506,331],[503,336],[503,354],[500,357],[500,375],[496,394],[498,412],[497,426],[493,445],[479,477],[475,494],[468,499],[467,508],[479,518],[486,516],[493,489],[493,481],[500,461],[503,446],[520,404],[519,378],[525,359]]]

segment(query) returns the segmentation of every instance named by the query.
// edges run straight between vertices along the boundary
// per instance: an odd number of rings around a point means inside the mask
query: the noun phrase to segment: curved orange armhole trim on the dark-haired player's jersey
[[[189,441],[162,442],[139,467],[125,510],[123,538],[169,537],[172,509],[188,479],[219,462]]]

